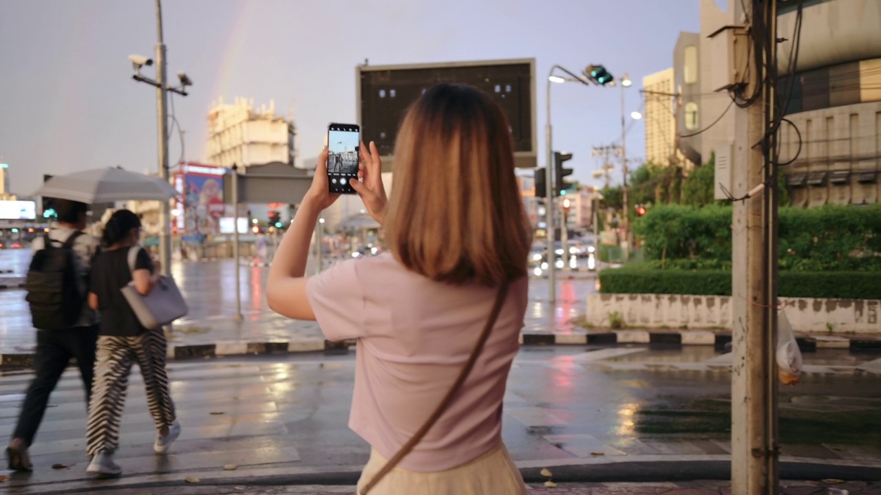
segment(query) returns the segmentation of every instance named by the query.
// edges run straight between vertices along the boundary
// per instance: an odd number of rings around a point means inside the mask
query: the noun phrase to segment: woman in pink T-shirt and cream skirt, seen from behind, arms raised
[[[337,199],[327,149],[278,248],[270,308],[358,339],[349,426],[372,447],[362,495],[526,493],[501,440],[530,244],[509,129],[484,92],[435,86],[403,119],[388,202],[378,150],[360,146],[352,188],[389,254],[304,277],[315,222]]]

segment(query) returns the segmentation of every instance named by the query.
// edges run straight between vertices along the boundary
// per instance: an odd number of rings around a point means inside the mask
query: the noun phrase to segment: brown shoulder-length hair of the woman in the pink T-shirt
[[[528,222],[510,128],[485,92],[437,85],[398,131],[385,229],[407,269],[453,284],[495,286],[526,274]]]

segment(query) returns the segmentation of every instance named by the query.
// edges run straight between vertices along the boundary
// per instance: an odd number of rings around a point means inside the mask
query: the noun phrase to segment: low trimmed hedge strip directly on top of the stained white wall
[[[626,294],[731,295],[731,272],[725,270],[650,270],[622,268],[599,273],[600,292]],[[781,271],[780,297],[881,299],[877,272]]]

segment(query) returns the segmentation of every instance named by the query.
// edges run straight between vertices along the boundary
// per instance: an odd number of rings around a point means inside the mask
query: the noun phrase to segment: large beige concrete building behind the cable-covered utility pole
[[[717,91],[719,78],[728,69],[720,65],[727,58],[728,45],[724,36],[712,34],[741,22],[734,18],[735,1],[729,0],[727,10],[714,0],[700,2],[701,97],[695,127],[706,129],[697,146],[704,163],[714,150],[734,141],[736,107],[730,106],[725,92]],[[796,37],[798,5],[784,2],[777,10],[777,33],[785,39],[778,45],[778,89],[787,102],[784,113],[789,121],[780,129],[779,161],[787,164],[780,172],[786,177],[790,201],[794,206],[878,203],[881,3],[804,2],[801,34]],[[800,44],[793,70],[789,55],[796,39]]]

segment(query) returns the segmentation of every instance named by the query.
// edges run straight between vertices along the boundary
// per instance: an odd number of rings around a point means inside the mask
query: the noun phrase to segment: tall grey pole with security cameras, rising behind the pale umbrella
[[[156,43],[156,79],[146,78],[141,75],[141,68],[144,65],[153,64],[151,58],[147,58],[144,55],[129,55],[129,60],[135,70],[135,74],[131,78],[156,88],[157,119],[159,120],[159,177],[168,181],[167,92],[176,92],[181,96],[187,96],[187,86],[193,85],[193,81],[183,72],[178,72],[177,78],[180,80],[181,85],[178,87],[167,85],[166,47],[162,41],[162,5],[160,0],[156,0],[156,32],[158,34],[158,41]],[[171,270],[171,249],[169,248],[169,241],[171,240],[170,210],[169,202],[162,202],[159,208],[159,225],[161,225],[161,232],[159,233],[159,260],[162,262],[162,271],[166,275]],[[238,232],[238,228],[235,228],[235,231]]]

